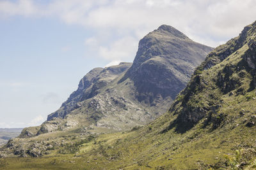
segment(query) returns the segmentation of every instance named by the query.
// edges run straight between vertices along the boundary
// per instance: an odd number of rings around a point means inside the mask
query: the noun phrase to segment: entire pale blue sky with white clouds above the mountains
[[[42,124],[88,71],[132,62],[162,24],[216,47],[255,9],[254,0],[0,0],[0,128]]]

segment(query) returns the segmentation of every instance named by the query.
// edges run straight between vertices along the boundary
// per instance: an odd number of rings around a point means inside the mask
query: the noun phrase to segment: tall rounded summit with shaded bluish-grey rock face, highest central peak
[[[177,29],[161,25],[141,39],[132,67],[122,80],[134,81],[140,102],[152,105],[166,97],[173,100],[211,50]]]

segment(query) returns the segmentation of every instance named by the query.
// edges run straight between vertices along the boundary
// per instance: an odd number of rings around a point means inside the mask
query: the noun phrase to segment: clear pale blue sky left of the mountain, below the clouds
[[[93,31],[84,27],[20,16],[1,20],[0,27],[0,127],[42,122],[84,74],[108,64],[86,55],[84,39]]]

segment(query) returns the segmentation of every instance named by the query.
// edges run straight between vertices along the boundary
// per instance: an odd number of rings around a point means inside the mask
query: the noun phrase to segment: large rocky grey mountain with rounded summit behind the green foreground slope
[[[168,110],[211,50],[161,25],[140,40],[133,63],[92,69],[38,131],[24,129],[22,134],[84,126],[122,131],[145,125]]]

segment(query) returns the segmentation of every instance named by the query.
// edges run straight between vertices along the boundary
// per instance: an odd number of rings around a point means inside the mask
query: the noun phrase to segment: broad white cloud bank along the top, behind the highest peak
[[[245,25],[252,23],[256,18],[255,8],[254,0],[53,0],[49,4],[31,0],[0,2],[0,13],[4,16],[55,17],[66,24],[93,29],[95,39],[89,40],[97,42],[100,48],[92,50],[109,61],[127,59],[125,52],[134,53],[134,48],[129,45],[117,45],[115,42],[132,37],[132,41],[138,43],[147,32],[161,24],[172,25],[200,43],[217,46],[237,36]],[[106,45],[106,41],[113,42]],[[131,60],[134,56],[130,57]]]

